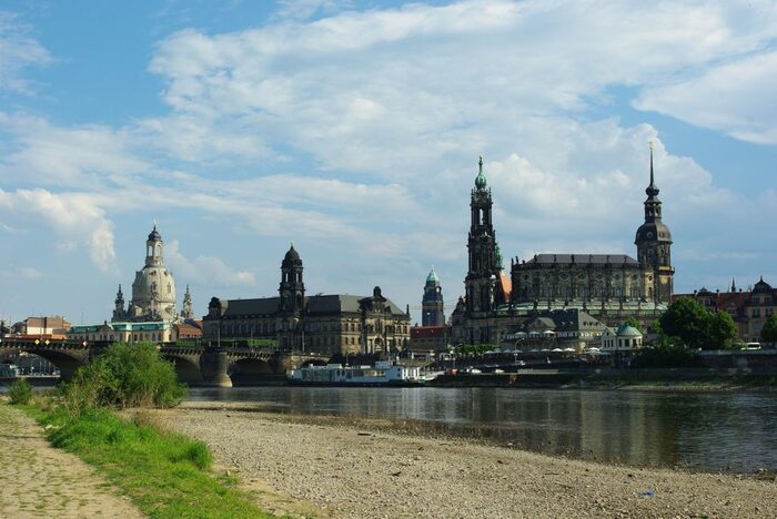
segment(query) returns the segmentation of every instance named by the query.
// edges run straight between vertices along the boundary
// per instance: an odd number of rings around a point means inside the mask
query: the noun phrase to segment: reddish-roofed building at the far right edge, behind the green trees
[[[759,343],[766,319],[777,312],[777,289],[764,277],[746,291],[737,291],[736,283],[731,281],[731,287],[726,292],[712,292],[703,287],[693,294],[676,294],[675,298],[678,297],[694,297],[712,312],[727,312],[737,324],[739,338],[744,343]]]

